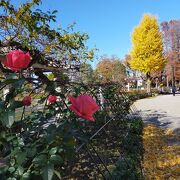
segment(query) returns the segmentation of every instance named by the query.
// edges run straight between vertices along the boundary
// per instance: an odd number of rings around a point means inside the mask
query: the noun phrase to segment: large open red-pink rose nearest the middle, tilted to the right
[[[69,96],[69,100],[72,103],[69,108],[75,114],[83,119],[94,121],[93,114],[99,110],[99,106],[91,96],[80,95],[77,98]]]

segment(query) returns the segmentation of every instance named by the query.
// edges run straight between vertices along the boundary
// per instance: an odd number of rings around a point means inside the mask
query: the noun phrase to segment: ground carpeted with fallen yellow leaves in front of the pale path
[[[145,179],[172,179],[180,177],[180,145],[178,135],[147,125],[143,132]]]

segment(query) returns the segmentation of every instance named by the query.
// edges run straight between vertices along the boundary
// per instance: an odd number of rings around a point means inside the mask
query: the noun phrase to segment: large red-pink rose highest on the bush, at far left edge
[[[2,64],[16,72],[27,68],[30,61],[29,52],[24,53],[21,50],[13,50],[6,55],[6,60],[2,61]]]

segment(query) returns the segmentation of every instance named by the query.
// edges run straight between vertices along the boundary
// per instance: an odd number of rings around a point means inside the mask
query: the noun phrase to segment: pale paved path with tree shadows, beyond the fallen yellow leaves
[[[180,94],[141,99],[135,106],[145,122],[180,133]]]

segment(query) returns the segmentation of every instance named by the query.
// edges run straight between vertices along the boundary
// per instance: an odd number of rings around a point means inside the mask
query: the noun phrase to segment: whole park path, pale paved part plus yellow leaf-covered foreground
[[[141,99],[134,105],[147,123],[142,138],[145,179],[179,179],[180,94]]]

